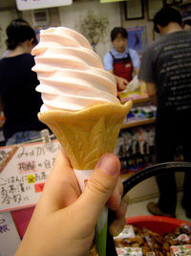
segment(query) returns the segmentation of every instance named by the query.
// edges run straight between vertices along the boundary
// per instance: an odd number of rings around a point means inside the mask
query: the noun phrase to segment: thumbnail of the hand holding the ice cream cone
[[[96,164],[96,168],[101,169],[106,175],[117,175],[117,160],[113,154],[104,154]]]

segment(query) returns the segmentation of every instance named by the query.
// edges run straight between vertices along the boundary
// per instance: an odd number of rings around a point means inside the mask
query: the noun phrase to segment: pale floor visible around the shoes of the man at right
[[[180,199],[182,198],[182,192],[178,193],[178,205],[177,205],[177,211],[176,211],[176,218],[180,219],[182,221],[188,221],[191,222],[191,219],[187,219],[185,217],[184,210],[180,206]],[[134,202],[130,203],[128,210],[127,210],[127,218],[128,217],[135,217],[135,216],[144,216],[144,215],[151,215],[146,208],[146,205],[149,201],[158,201],[158,198],[149,199],[149,200],[143,200],[140,202]]]

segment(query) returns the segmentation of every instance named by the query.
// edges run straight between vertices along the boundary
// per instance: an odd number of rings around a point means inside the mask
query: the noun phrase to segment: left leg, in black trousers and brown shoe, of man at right
[[[173,126],[162,119],[156,124],[156,158],[158,163],[174,160],[176,144]],[[161,170],[162,172],[162,170]],[[156,176],[159,188],[158,203],[149,203],[147,208],[152,214],[175,216],[177,205],[177,185],[174,174],[161,174]]]

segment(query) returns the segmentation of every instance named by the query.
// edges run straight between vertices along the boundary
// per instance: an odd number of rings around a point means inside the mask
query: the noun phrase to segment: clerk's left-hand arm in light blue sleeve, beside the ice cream
[[[118,89],[119,89],[119,91],[122,91],[126,88],[126,86],[129,82],[114,74],[113,62],[114,62],[113,57],[111,56],[110,53],[107,53],[103,58],[104,68],[105,68],[105,70],[109,71],[110,73],[112,73],[114,75],[114,77],[117,81]]]

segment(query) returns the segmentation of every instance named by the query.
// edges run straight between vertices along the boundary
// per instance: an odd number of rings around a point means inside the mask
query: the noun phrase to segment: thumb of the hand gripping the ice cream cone
[[[87,218],[92,217],[92,221],[97,221],[117,186],[119,172],[120,162],[115,154],[106,153],[98,160],[95,171],[80,197],[81,207],[86,209]]]

